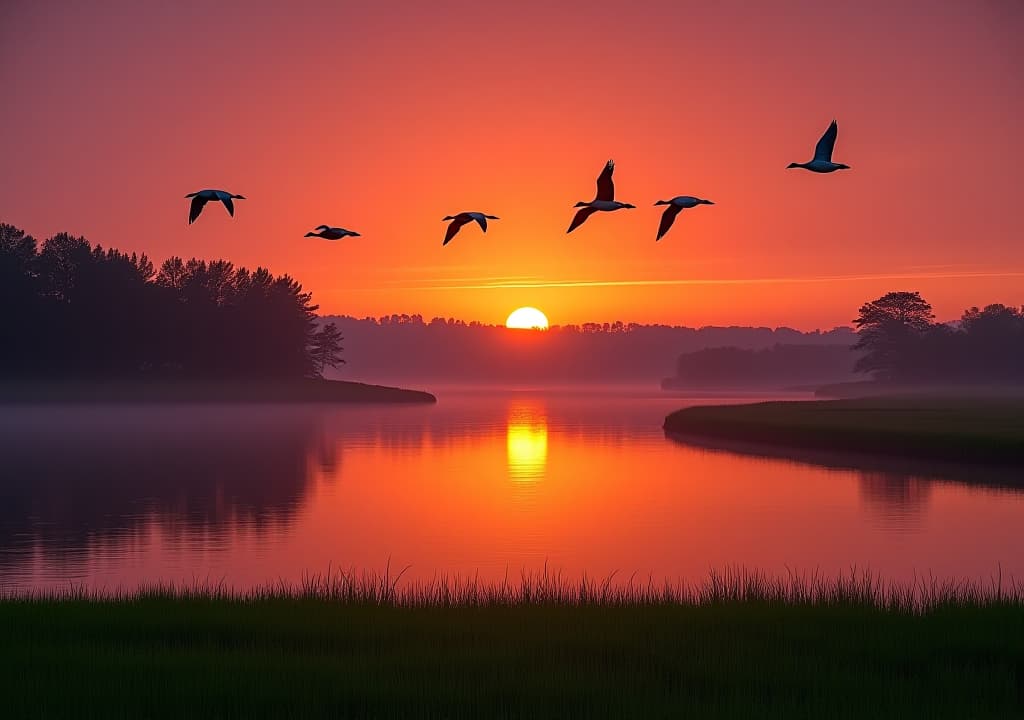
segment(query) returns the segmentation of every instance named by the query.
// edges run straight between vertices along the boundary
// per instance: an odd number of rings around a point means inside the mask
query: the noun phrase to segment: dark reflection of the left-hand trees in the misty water
[[[272,537],[309,466],[336,463],[317,418],[284,409],[62,408],[0,415],[0,577],[76,578],[112,547],[169,549]]]

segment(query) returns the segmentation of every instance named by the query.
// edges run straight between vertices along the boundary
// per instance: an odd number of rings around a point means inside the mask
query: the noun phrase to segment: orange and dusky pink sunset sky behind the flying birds
[[[4,0],[0,221],[357,316],[814,329],[919,290],[951,320],[1024,304],[1022,34],[1019,0]],[[833,118],[853,169],[785,170]],[[608,158],[637,209],[567,236]],[[204,187],[248,200],[189,226]],[[655,243],[676,195],[716,204]],[[502,219],[442,248],[463,210]]]

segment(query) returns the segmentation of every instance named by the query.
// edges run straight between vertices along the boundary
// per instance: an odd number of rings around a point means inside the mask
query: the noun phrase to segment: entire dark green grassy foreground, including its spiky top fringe
[[[1019,717],[1024,586],[333,574],[0,600],[5,717]]]

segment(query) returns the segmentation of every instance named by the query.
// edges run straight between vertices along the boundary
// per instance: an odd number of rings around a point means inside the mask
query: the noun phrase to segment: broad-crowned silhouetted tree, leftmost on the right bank
[[[864,303],[853,321],[858,340],[854,349],[864,350],[854,370],[874,373],[880,379],[899,378],[912,354],[912,346],[932,328],[932,306],[919,292],[894,292]]]

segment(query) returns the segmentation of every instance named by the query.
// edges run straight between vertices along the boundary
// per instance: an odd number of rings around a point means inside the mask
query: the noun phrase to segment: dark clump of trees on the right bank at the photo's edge
[[[918,292],[864,303],[854,321],[855,370],[900,383],[1024,383],[1024,307],[971,307],[956,323],[936,323]]]

